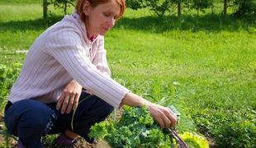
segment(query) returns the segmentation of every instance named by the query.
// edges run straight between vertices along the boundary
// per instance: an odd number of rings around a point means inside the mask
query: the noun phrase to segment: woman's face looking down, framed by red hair
[[[87,4],[85,4],[87,5]],[[92,35],[105,35],[107,30],[115,25],[116,16],[120,14],[121,7],[116,0],[99,4],[97,7],[84,7],[83,12],[88,16],[85,22],[88,37]]]

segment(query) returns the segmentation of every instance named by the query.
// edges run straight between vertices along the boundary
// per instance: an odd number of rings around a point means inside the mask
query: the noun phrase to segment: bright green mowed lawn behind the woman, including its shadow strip
[[[41,11],[40,3],[0,2],[1,64],[24,62],[26,54],[17,51],[29,49],[61,19],[57,12],[43,20]],[[128,9],[105,36],[112,76],[153,101],[174,104],[192,120],[205,109],[212,111],[210,122],[215,113],[225,118],[229,109],[256,110],[255,24],[255,19],[155,17]]]

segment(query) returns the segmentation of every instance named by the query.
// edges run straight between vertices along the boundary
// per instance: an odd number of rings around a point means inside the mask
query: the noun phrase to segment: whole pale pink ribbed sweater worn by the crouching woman
[[[56,102],[73,79],[115,108],[130,92],[110,77],[103,36],[88,39],[85,25],[76,13],[64,16],[31,45],[9,100]]]

